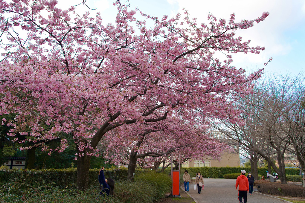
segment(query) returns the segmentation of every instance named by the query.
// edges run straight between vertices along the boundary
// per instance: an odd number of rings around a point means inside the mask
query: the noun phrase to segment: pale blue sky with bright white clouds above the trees
[[[81,3],[82,0],[58,0],[59,8]],[[125,1],[121,1],[125,3]],[[185,8],[190,16],[197,18],[198,23],[207,23],[208,12],[217,19],[229,19],[235,13],[236,20],[252,20],[267,11],[270,15],[261,23],[247,30],[236,31],[244,41],[251,40],[250,45],[264,46],[260,54],[233,55],[233,65],[244,68],[247,72],[263,68],[271,57],[273,60],[265,67],[265,74],[291,74],[292,76],[305,70],[305,1],[304,0],[129,0],[130,8],[138,7],[144,13],[161,18],[163,15],[175,16],[183,14]],[[117,9],[113,0],[87,0],[86,4],[95,10],[77,6],[78,12],[89,10],[91,13],[101,12],[105,23],[114,22]]]

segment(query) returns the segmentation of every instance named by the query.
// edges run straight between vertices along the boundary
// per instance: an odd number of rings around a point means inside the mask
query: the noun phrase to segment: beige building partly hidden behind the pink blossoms
[[[223,136],[221,133],[217,131],[213,131],[214,137],[219,139],[221,142],[225,142],[234,149],[233,152],[224,153],[221,155],[221,160],[215,160],[206,158],[204,161],[201,160],[193,160],[189,159],[186,162],[182,163],[182,167],[238,167],[240,166],[240,158],[239,158],[239,147],[236,147],[233,144],[233,140],[228,139],[227,137]]]

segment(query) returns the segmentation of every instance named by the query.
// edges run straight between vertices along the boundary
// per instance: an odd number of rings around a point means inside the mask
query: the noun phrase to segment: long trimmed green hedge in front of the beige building
[[[183,168],[181,170],[187,169],[188,172],[197,173],[200,172],[205,178],[224,178],[225,174],[239,173],[241,170],[245,170],[247,173],[251,171],[251,167],[190,167]],[[258,168],[258,174],[262,176],[267,176],[267,168]],[[269,174],[272,174],[271,171]],[[299,175],[299,169],[286,169],[286,175]]]

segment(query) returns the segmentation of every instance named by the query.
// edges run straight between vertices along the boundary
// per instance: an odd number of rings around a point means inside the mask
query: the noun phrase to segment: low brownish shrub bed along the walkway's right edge
[[[305,188],[303,186],[293,184],[270,183],[268,181],[256,182],[257,190],[262,193],[290,196],[290,197],[305,197]]]

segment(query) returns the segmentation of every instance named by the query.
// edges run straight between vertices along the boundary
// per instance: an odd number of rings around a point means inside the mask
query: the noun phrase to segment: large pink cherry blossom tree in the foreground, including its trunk
[[[267,12],[241,22],[234,14],[228,21],[209,14],[204,24],[187,12],[183,19],[180,14],[158,19],[138,11],[154,23],[147,27],[119,1],[116,21],[107,25],[100,13],[79,16],[74,6],[62,10],[56,3],[0,0],[0,32],[6,37],[0,113],[16,113],[10,136],[24,135],[44,150],[62,152],[73,139],[80,190],[88,187],[97,144],[115,128],[159,122],[173,111],[198,123],[210,117],[240,121],[234,100],[252,93],[251,82],[262,70],[246,76],[231,66],[231,53],[259,53],[264,47],[250,47],[235,30],[263,21]],[[227,58],[213,57],[217,51]],[[57,138],[58,148],[44,144]]]

